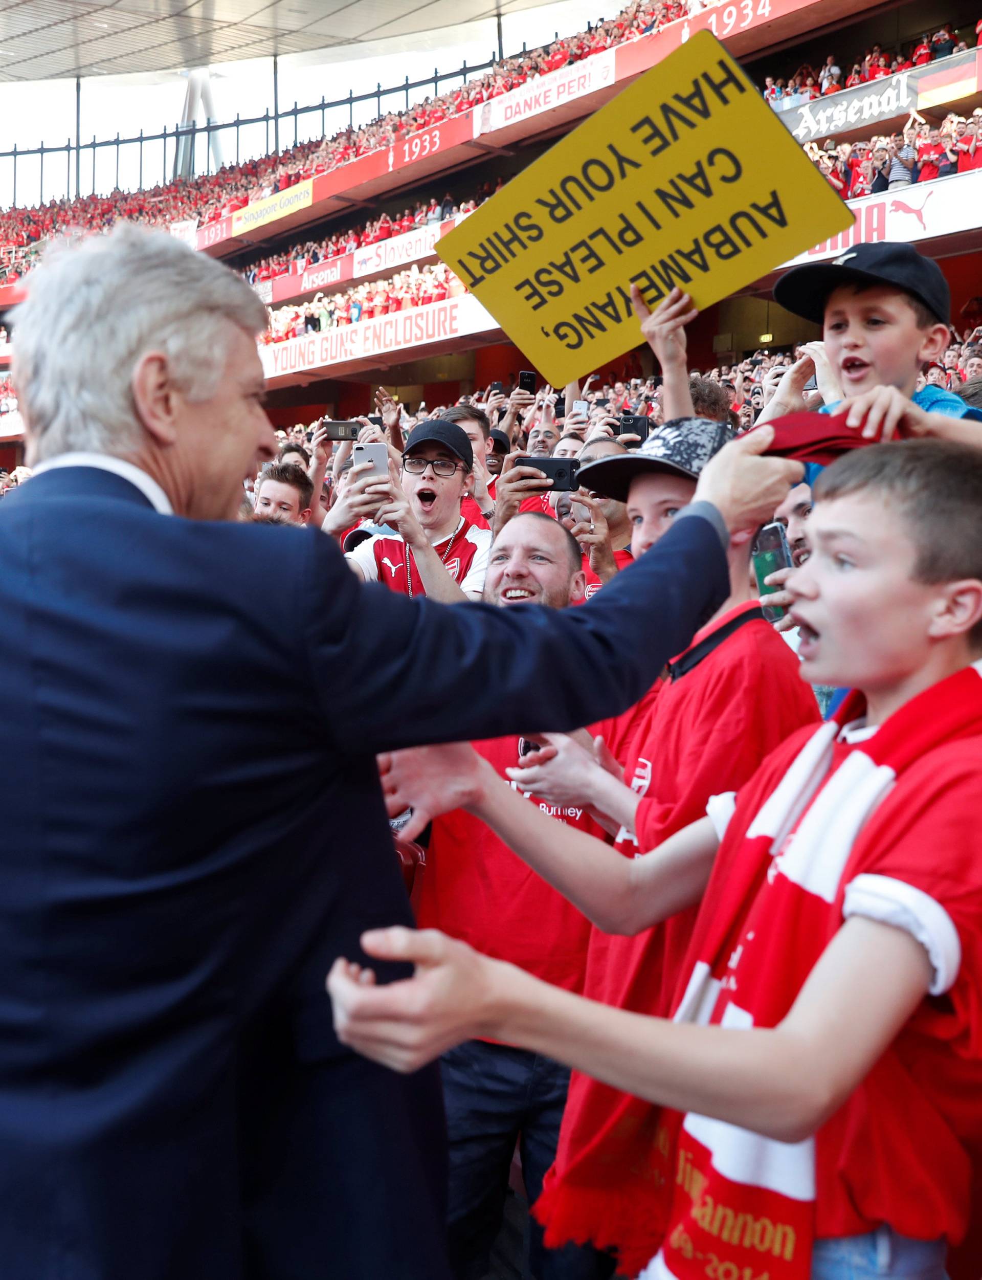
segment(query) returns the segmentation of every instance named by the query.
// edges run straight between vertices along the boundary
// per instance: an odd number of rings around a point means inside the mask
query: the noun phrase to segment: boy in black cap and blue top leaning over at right
[[[786,271],[775,301],[823,326],[825,369],[805,356],[791,366],[758,421],[804,408],[809,376],[818,375],[825,413],[848,410],[850,426],[889,439],[897,428],[982,443],[978,410],[942,387],[917,392],[922,369],[941,360],[950,342],[951,298],[941,269],[913,244],[857,244],[830,262]],[[831,390],[828,390],[831,388]]]

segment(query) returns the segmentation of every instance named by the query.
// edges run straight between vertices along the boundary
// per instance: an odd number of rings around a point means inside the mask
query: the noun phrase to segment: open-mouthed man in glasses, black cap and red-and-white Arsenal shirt
[[[463,430],[440,419],[420,422],[406,440],[402,474],[365,486],[379,499],[375,524],[397,532],[360,543],[348,564],[362,581],[411,598],[479,600],[492,535],[461,512],[472,490],[474,451]]]

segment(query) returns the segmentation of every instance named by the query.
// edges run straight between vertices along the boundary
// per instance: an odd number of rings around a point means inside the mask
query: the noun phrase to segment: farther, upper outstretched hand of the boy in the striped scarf
[[[378,763],[389,818],[412,809],[399,831],[403,840],[415,840],[434,818],[470,808],[484,794],[484,760],[469,742],[411,746],[380,755]]]

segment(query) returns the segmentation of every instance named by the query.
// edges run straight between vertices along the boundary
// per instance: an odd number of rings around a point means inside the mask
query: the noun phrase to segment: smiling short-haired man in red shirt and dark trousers
[[[543,516],[517,516],[492,547],[484,603],[499,608],[566,608],[584,595],[580,549]],[[474,748],[499,776],[524,742],[488,739]],[[517,788],[516,788],[517,790]],[[557,822],[602,836],[584,805],[551,805],[525,792]],[[498,837],[457,809],[433,823],[417,904],[420,928],[438,928],[567,991],[581,991],[589,922]],[[570,1073],[510,1044],[467,1041],[440,1061],[449,1143],[448,1239],[460,1280],[484,1276],[502,1222],[516,1142],[530,1198],[556,1155]],[[611,1260],[593,1249],[544,1249],[531,1224],[529,1271],[538,1280],[606,1280]]]

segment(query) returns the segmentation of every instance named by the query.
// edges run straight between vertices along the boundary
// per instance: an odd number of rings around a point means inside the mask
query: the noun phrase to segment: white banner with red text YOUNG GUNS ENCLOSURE
[[[260,346],[262,370],[268,379],[306,371],[325,376],[334,365],[351,365],[374,356],[406,353],[414,348],[448,338],[497,329],[498,323],[471,293],[426,307],[410,307],[375,320],[341,325],[324,333]]]

